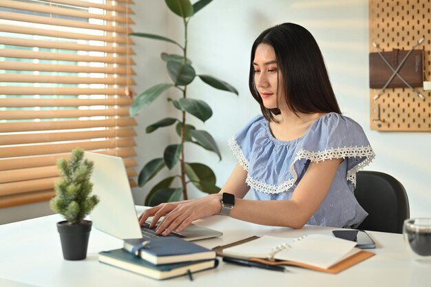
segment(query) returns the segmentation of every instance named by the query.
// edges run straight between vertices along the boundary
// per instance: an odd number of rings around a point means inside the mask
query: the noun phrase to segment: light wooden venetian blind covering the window
[[[130,4],[0,1],[0,207],[50,200],[75,147],[123,157],[134,185]]]

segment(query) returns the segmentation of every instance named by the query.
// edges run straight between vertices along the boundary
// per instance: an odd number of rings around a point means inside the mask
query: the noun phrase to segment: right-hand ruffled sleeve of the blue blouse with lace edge
[[[362,127],[354,120],[330,113],[317,120],[313,130],[299,147],[293,172],[302,174],[306,161],[319,162],[343,158],[347,166],[347,180],[356,185],[356,173],[370,164],[375,153]]]

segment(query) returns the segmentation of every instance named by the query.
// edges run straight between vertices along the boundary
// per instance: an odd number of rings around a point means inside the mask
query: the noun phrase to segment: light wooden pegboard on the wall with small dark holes
[[[370,0],[370,52],[411,50],[421,38],[424,51],[424,79],[431,78],[431,0]],[[431,131],[431,91],[416,87],[422,100],[408,87],[387,88],[374,100],[379,89],[370,89],[370,127],[378,131]],[[380,109],[380,120],[379,120]]]

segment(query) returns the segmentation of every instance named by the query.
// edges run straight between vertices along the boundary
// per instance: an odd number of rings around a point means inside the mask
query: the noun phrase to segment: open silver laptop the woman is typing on
[[[123,159],[88,151],[85,151],[85,158],[94,162],[94,171],[90,179],[93,183],[92,194],[98,195],[100,199],[90,213],[93,226],[122,240],[158,236],[155,235],[155,229],[149,228],[149,222],[144,226],[139,225]],[[174,233],[171,236],[192,241],[221,235],[223,233],[220,231],[190,224],[181,233]]]

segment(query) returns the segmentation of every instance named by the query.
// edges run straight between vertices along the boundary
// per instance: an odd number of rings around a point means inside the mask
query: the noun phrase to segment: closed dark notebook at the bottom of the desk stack
[[[217,259],[154,265],[128,253],[127,251],[124,251],[123,249],[102,251],[98,253],[98,260],[105,264],[129,270],[154,279],[167,279],[187,275],[200,270],[215,268],[218,265]]]

